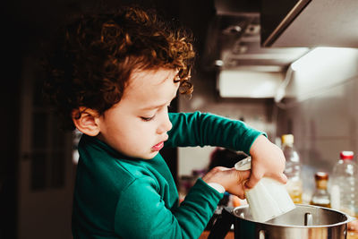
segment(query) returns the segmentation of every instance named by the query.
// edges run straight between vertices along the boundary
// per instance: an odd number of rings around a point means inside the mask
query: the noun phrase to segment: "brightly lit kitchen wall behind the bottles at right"
[[[287,92],[293,98],[278,107],[277,135],[294,134],[307,197],[316,171],[331,174],[341,150],[358,153],[358,50],[346,53],[327,55],[295,72]]]

